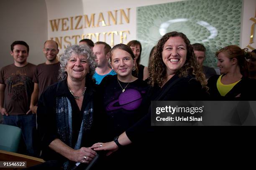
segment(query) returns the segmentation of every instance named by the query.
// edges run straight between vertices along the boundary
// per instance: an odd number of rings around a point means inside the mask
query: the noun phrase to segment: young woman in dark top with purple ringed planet
[[[132,70],[136,65],[131,48],[124,44],[115,45],[110,51],[110,61],[117,75],[108,75],[100,83],[100,94],[105,110],[102,141],[111,141],[145,115],[140,106],[148,90],[148,84],[134,77]],[[107,157],[104,168],[120,169],[118,165],[127,164],[128,158],[138,147],[130,145]],[[121,159],[120,159],[121,158]]]

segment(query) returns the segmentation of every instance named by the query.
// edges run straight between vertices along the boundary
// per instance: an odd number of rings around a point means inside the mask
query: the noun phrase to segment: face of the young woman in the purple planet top
[[[131,57],[131,54],[125,50],[119,48],[113,51],[111,56],[111,65],[118,77],[130,77],[132,76],[132,69],[135,66],[135,60]]]

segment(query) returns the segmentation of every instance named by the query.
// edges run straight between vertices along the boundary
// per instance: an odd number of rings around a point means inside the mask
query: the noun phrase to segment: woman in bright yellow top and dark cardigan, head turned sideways
[[[255,100],[256,80],[248,78],[251,52],[229,45],[216,52],[220,74],[209,78],[207,86],[212,100]]]

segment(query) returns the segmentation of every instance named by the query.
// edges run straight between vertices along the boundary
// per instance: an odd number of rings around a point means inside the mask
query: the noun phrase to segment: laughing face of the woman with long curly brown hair
[[[170,37],[165,43],[162,59],[166,66],[166,74],[173,75],[186,62],[187,47],[182,37]]]

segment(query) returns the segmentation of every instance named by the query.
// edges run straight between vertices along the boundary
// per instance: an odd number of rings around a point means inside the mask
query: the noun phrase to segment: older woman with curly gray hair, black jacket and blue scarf
[[[90,48],[79,45],[68,47],[60,62],[60,81],[48,87],[38,102],[38,129],[42,157],[54,160],[51,166],[71,169],[96,155],[87,147],[96,140],[92,132],[99,107],[92,75],[97,64]]]

